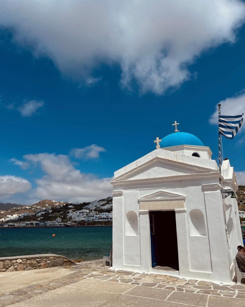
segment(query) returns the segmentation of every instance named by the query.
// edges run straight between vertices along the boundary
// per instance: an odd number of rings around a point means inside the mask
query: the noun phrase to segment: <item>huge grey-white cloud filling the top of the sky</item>
[[[119,64],[123,86],[157,94],[190,78],[202,52],[234,42],[244,16],[240,0],[0,2],[0,25],[67,76],[91,83],[101,63]]]

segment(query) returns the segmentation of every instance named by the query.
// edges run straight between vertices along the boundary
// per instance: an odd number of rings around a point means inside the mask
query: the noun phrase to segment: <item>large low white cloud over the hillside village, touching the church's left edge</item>
[[[111,178],[99,179],[75,169],[66,155],[55,153],[28,154],[28,162],[40,165],[45,175],[36,179],[33,197],[72,202],[91,201],[111,195]]]

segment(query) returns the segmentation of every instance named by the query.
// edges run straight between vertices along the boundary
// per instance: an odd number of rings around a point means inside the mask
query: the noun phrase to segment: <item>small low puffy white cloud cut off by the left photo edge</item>
[[[15,176],[0,176],[0,196],[24,193],[31,188],[28,180]]]

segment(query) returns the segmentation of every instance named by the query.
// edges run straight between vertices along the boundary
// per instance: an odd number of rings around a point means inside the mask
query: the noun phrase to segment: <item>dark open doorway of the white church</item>
[[[175,211],[150,211],[152,267],[179,270]]]

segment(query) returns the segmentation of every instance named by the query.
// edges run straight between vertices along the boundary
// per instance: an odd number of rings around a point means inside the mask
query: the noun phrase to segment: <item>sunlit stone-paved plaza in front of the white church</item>
[[[236,307],[245,285],[217,285],[166,275],[114,271],[102,260],[0,274],[0,307]]]

